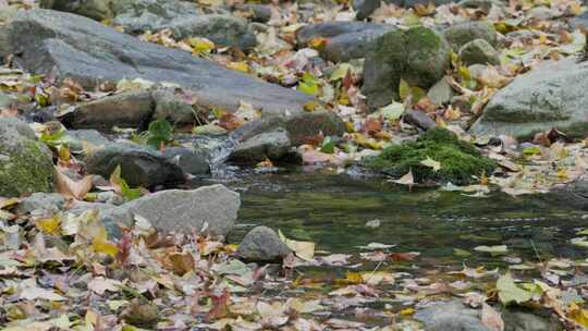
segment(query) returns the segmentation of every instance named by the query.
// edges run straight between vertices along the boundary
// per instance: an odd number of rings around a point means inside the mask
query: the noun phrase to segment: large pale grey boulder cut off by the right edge
[[[553,127],[573,137],[588,134],[588,62],[546,62],[517,76],[488,102],[470,132],[532,137]]]

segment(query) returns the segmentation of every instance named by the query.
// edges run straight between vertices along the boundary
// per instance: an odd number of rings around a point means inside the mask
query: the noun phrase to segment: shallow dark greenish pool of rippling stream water
[[[369,243],[396,245],[393,252],[420,252],[433,265],[503,265],[473,252],[479,245],[507,245],[509,257],[586,258],[569,240],[588,225],[586,214],[549,195],[511,197],[492,193],[468,197],[456,192],[399,187],[382,179],[354,179],[291,171],[223,181],[242,195],[237,243],[255,225],[280,229],[287,237],[313,241],[328,253],[357,253]],[[380,220],[370,229],[366,222]],[[457,256],[454,248],[471,253]]]

